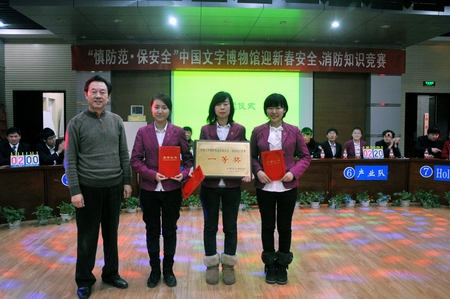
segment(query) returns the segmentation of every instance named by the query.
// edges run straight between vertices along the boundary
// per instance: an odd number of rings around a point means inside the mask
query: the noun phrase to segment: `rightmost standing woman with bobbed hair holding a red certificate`
[[[292,262],[292,215],[299,177],[311,163],[311,156],[297,126],[283,121],[288,111],[286,98],[277,93],[264,101],[268,123],[256,127],[250,140],[252,171],[261,215],[261,259],[267,283],[286,284]],[[296,163],[294,157],[299,158]],[[265,167],[263,167],[263,165]],[[281,174],[279,170],[281,169]],[[278,231],[278,251],[274,231]]]

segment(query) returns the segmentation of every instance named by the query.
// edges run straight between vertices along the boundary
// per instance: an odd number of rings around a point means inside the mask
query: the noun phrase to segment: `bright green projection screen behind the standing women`
[[[234,121],[246,128],[250,140],[253,128],[268,121],[264,100],[280,93],[289,105],[284,121],[298,126],[299,81],[297,72],[174,71],[172,121],[191,127],[192,139],[199,139],[214,94],[225,91],[233,97]]]

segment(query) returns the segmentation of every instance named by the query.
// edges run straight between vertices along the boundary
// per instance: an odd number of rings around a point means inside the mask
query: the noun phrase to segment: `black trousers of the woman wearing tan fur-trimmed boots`
[[[225,235],[224,253],[236,254],[237,217],[241,201],[241,188],[208,188],[202,186],[200,199],[203,206],[204,228],[203,243],[205,255],[217,253],[216,236],[219,224],[220,201],[222,199],[222,222]]]

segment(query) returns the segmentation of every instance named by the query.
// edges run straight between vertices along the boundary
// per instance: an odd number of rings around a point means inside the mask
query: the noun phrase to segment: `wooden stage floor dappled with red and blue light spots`
[[[448,207],[302,207],[294,213],[287,285],[264,282],[260,216],[240,211],[236,284],[205,282],[202,211],[184,210],[178,222],[174,272],[178,285],[150,289],[142,213],[122,214],[120,274],[125,290],[101,282],[101,239],[94,274],[98,298],[450,298]],[[77,298],[75,220],[60,226],[0,225],[0,298]],[[218,250],[223,250],[219,228]]]

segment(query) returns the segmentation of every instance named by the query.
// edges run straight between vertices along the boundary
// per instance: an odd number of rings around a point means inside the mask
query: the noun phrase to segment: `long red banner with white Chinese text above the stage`
[[[251,70],[403,74],[404,50],[261,46],[72,46],[72,69]]]

